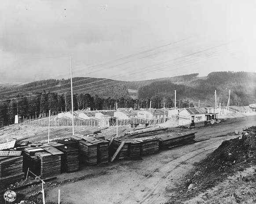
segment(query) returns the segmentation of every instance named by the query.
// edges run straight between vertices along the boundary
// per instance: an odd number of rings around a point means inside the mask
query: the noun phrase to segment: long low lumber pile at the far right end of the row
[[[193,143],[195,140],[196,132],[172,132],[168,134],[157,135],[160,140],[160,147],[162,149],[174,147],[183,144]]]

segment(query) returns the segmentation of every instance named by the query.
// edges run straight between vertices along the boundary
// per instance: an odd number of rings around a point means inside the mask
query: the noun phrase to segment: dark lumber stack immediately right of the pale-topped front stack
[[[79,168],[78,149],[70,146],[57,146],[58,150],[62,151],[61,157],[61,172],[76,172]]]

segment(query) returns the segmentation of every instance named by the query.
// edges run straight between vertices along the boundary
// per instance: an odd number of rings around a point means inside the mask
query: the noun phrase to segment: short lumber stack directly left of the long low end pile
[[[156,138],[154,136],[136,138],[135,140],[140,142],[141,156],[145,156],[148,154],[154,154],[159,151],[159,140],[158,140],[158,138]]]

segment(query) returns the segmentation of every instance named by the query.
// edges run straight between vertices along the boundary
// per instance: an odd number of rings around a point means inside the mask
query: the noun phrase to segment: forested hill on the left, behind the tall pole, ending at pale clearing
[[[10,98],[10,96],[15,96],[17,93],[43,91],[66,93],[69,90],[70,79],[48,79],[31,82],[20,86],[0,86],[0,96]],[[90,93],[91,95],[97,94],[102,98],[129,98],[125,83],[112,79],[75,77],[73,78],[73,93]]]

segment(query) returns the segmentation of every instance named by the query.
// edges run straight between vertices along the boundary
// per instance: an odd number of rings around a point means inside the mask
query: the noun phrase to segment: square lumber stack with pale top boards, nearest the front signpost
[[[42,178],[48,178],[61,173],[61,155],[60,150],[55,147],[42,147],[44,152],[37,152],[35,155],[40,158],[41,169],[40,175]]]

